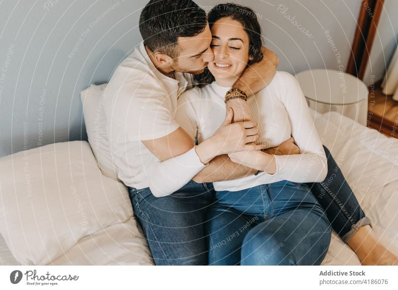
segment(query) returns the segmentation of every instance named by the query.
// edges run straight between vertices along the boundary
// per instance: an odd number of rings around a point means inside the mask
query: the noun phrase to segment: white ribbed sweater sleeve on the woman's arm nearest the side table
[[[304,95],[294,76],[279,73],[283,82],[280,98],[300,154],[276,155],[277,172],[272,176],[299,183],[323,181],[327,175],[327,159]]]

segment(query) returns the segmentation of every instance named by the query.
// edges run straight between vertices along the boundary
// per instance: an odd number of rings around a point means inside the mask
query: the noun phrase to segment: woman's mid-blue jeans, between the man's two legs
[[[305,184],[218,191],[207,213],[210,265],[320,265],[331,226]]]

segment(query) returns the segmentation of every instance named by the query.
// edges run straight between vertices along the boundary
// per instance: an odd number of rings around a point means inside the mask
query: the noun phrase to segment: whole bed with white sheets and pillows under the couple
[[[153,265],[107,149],[105,88],[81,94],[89,143],[0,158],[1,265]],[[381,242],[398,255],[398,139],[338,113],[312,113]],[[360,262],[333,232],[322,265]]]

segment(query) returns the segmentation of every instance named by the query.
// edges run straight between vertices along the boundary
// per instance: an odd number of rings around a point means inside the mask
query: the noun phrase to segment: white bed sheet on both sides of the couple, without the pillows
[[[323,144],[340,165],[381,242],[398,255],[398,139],[387,138],[338,113],[312,113]],[[137,265],[136,261],[141,261],[138,265],[151,265],[146,258],[149,250],[145,243],[132,243],[130,235],[140,236],[133,219],[81,239],[51,264]],[[137,259],[136,253],[144,253],[146,257]],[[0,264],[18,265],[1,236]],[[322,265],[360,265],[360,262],[333,233]]]

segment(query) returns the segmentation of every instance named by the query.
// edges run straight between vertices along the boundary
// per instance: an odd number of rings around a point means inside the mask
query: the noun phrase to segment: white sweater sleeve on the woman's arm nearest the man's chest
[[[174,120],[195,141],[197,138],[197,115],[200,108],[200,99],[196,90],[189,90],[178,99],[178,106],[173,114]],[[201,163],[195,147],[181,155],[159,161],[149,169],[151,192],[156,197],[167,196],[187,184],[206,165]]]

